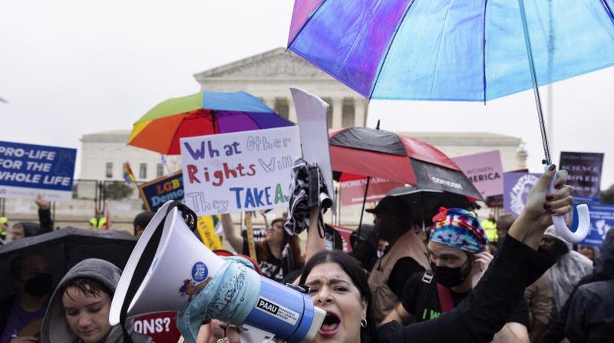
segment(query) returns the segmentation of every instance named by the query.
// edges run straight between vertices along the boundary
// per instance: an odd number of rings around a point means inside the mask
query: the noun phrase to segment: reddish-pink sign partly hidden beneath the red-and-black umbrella
[[[362,204],[365,198],[367,179],[343,181],[339,183],[341,206]],[[405,186],[403,183],[394,182],[381,177],[371,177],[367,202],[380,201],[392,188]]]

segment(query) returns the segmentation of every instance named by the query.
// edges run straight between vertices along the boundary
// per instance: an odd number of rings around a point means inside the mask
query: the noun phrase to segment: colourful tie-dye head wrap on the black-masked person
[[[430,233],[430,241],[433,242],[470,253],[483,251],[488,243],[478,218],[467,210],[442,207],[439,214],[433,217],[433,225]]]

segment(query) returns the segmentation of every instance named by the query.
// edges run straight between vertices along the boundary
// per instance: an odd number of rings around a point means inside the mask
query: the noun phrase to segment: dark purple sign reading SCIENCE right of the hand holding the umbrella
[[[573,186],[577,201],[599,203],[603,163],[602,153],[561,152],[560,168],[569,172],[567,184]]]

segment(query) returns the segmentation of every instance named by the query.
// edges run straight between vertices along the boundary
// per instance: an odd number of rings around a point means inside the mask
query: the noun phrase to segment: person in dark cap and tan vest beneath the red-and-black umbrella
[[[429,267],[426,247],[414,233],[407,202],[395,196],[381,199],[375,209],[375,231],[380,239],[389,243],[387,252],[379,258],[369,276],[369,288],[373,293],[373,317],[382,320],[400,303],[403,287],[414,272]]]

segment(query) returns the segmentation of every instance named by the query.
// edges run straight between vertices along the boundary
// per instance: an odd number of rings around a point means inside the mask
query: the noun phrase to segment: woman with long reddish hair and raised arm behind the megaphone
[[[303,266],[298,237],[290,235],[284,229],[283,218],[276,218],[266,228],[266,237],[256,244],[256,257],[262,275],[281,282],[289,272]],[[224,237],[236,252],[249,256],[247,239],[237,234],[230,214],[222,215]]]

